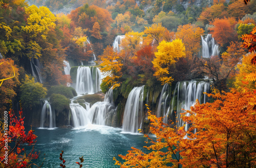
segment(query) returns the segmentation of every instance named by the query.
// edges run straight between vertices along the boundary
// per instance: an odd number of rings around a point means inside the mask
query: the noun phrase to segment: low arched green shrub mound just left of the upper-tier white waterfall
[[[66,87],[63,85],[52,86],[48,91],[48,96],[51,96],[52,94],[61,94],[70,99],[77,96],[77,93],[74,88]]]

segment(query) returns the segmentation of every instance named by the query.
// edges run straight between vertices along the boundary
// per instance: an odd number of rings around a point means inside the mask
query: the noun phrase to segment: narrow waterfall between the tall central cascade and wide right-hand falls
[[[168,94],[168,84],[165,83],[163,86],[160,99],[158,102],[157,108],[157,117],[164,117],[163,122],[167,123],[168,121],[168,113],[169,113],[169,94]]]

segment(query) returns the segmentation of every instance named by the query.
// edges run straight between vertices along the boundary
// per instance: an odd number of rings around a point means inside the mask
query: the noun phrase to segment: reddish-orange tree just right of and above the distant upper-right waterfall
[[[234,31],[236,20],[233,18],[217,18],[211,24],[214,27],[209,27],[210,33],[221,46],[228,44],[230,41],[236,41],[237,35]]]

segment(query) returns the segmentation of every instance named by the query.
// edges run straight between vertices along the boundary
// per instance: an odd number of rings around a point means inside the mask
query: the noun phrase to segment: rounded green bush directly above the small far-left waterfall
[[[50,102],[54,109],[61,112],[63,110],[69,110],[70,99],[61,94],[52,94],[50,96]]]

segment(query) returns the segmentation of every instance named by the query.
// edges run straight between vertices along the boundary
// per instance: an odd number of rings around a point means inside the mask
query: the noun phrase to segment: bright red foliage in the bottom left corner
[[[9,118],[7,114],[9,114]],[[9,113],[5,111],[5,122],[3,123],[3,129],[0,131],[0,161],[5,167],[29,167],[32,165],[30,161],[38,158],[38,154],[34,152],[34,149],[30,153],[25,150],[25,146],[31,146],[36,142],[35,138],[37,136],[33,134],[33,130],[29,130],[28,133],[25,132],[22,115],[22,109],[19,110],[18,118],[14,116],[13,110],[10,110]],[[8,120],[9,130],[6,127]],[[8,156],[4,154],[8,154]]]

